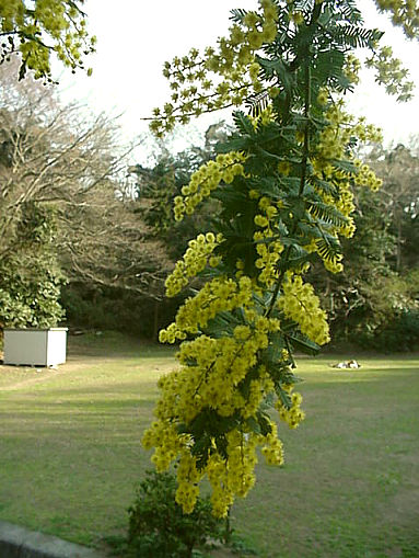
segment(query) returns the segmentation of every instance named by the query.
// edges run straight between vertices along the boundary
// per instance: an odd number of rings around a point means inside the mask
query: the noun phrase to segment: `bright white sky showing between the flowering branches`
[[[401,31],[394,30],[386,16],[376,13],[372,0],[360,0],[358,4],[368,25],[386,32],[383,42],[391,45],[409,68],[418,91],[411,102],[400,104],[386,95],[371,76],[364,76],[356,94],[350,95],[349,109],[381,126],[386,144],[406,143],[409,136],[419,134],[419,43],[408,42]],[[86,0],[84,5],[89,30],[97,37],[97,52],[86,59],[93,75],[88,78],[78,71],[73,77],[57,67],[60,95],[65,102],[85,103],[94,112],[120,115],[124,136],[135,138],[148,130],[147,122],[141,118],[150,116],[154,106],[168,100],[168,86],[162,76],[164,61],[187,54],[193,46],[214,45],[231,24],[230,10],[254,9],[257,2]],[[228,114],[199,118],[194,126],[177,132],[177,145],[198,141],[199,130],[223,117]]]

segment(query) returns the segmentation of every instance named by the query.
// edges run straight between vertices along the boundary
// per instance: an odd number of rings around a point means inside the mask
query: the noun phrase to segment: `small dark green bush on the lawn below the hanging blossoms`
[[[184,514],[175,494],[174,475],[147,472],[128,510],[128,556],[187,558],[209,538],[222,539],[224,522],[212,515],[208,497],[198,499],[193,513]]]

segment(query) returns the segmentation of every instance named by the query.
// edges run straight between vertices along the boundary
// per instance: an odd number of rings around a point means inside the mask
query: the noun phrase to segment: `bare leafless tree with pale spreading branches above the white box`
[[[115,122],[60,105],[51,88],[31,76],[18,82],[14,70],[12,62],[0,67],[0,258],[16,252],[28,207],[44,216],[51,208],[54,253],[67,288],[161,296],[170,260],[161,242],[147,238],[127,195],[131,146],[121,145]]]

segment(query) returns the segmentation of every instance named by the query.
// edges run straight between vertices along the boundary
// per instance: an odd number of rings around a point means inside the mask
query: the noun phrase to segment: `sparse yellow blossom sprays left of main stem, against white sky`
[[[193,48],[187,56],[165,62],[163,75],[170,80],[172,102],[163,111],[154,109],[150,128],[156,136],[172,130],[176,122],[188,123],[193,115],[240,106],[251,90],[260,91],[255,53],[275,41],[278,13],[272,0],[259,0],[259,7],[260,12],[251,11],[242,24],[232,25],[217,48],[206,48],[203,56]]]

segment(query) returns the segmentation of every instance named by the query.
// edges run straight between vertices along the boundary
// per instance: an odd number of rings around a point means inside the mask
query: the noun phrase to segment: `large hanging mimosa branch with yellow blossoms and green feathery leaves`
[[[417,33],[412,2],[377,4]],[[366,64],[398,100],[412,89],[353,0],[259,0],[255,11],[233,10],[232,21],[216,47],[166,62],[172,99],[151,122],[161,136],[201,113],[238,107],[235,133],[175,200],[176,219],[208,196],[220,210],[166,281],[167,296],[199,289],[160,332],[161,342],[181,342],[179,367],[160,379],[156,420],[143,436],[158,470],[177,463],[184,512],[207,476],[218,516],[253,487],[258,446],[268,464],[283,463],[273,412],[292,429],[304,419],[294,352],[316,354],[329,341],[304,274],[317,259],[342,270],[353,189],[381,185],[354,156],[381,133],[345,109],[359,80],[354,50],[369,50]]]

